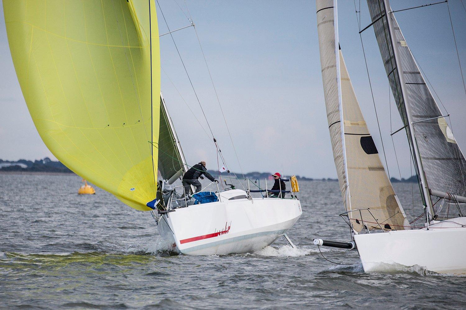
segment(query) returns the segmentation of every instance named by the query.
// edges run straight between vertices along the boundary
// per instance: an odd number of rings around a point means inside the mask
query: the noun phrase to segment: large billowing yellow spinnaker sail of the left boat
[[[48,149],[125,204],[150,210],[160,111],[154,0],[3,0],[3,9],[21,90]]]

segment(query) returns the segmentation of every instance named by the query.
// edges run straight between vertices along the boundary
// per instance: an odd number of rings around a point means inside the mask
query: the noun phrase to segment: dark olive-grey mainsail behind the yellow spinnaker
[[[158,135],[158,171],[169,184],[176,181],[185,172],[185,160],[178,145],[176,132],[172,128],[170,115],[165,102],[160,96],[160,126]]]

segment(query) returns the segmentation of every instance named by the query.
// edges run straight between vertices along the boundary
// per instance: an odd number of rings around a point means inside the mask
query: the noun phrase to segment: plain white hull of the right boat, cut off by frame
[[[402,264],[466,274],[466,227],[462,225],[466,218],[452,218],[430,225],[429,230],[360,234],[354,239],[365,272],[383,271],[384,264]]]

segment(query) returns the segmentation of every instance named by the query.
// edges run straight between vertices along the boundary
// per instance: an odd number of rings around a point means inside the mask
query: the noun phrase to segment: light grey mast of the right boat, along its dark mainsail
[[[388,10],[391,10],[389,0],[384,0],[384,10],[385,10],[385,14],[390,14],[390,16],[387,15],[386,17],[387,17],[388,29],[389,29],[390,37],[391,37],[391,46],[393,47],[393,55],[395,57],[395,63],[396,63],[397,72],[398,72],[398,79],[400,81],[401,95],[403,97],[404,109],[406,111],[406,118],[408,120],[408,124],[407,124],[409,128],[408,133],[411,138],[411,144],[412,144],[414,156],[416,159],[416,163],[418,165],[418,175],[421,181],[422,192],[423,192],[424,200],[426,204],[425,216],[427,219],[427,223],[429,223],[429,212],[432,214],[432,216],[434,212],[432,209],[432,201],[431,201],[429,189],[427,188],[427,180],[425,179],[425,173],[422,167],[418,144],[416,142],[416,137],[414,134],[414,126],[411,122],[411,119],[412,119],[411,107],[407,101],[407,91],[406,91],[406,87],[404,84],[405,82],[404,82],[403,66],[401,65],[401,60],[399,57],[398,46],[397,46],[397,41],[396,41],[397,39],[395,35],[395,29],[393,26],[393,20],[391,20],[391,16],[393,15],[393,12],[388,11]]]

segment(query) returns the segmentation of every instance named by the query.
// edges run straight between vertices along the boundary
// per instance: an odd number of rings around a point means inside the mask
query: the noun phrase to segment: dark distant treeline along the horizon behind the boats
[[[63,165],[59,161],[53,161],[50,158],[46,157],[43,159],[39,160],[26,160],[26,159],[20,159],[16,161],[9,161],[9,160],[3,160],[0,159],[0,172],[1,171],[18,171],[18,172],[59,172],[59,173],[73,173],[73,171],[69,170],[68,167]],[[210,174],[212,174],[215,177],[219,176],[219,171],[216,170],[207,170]],[[243,176],[242,173],[237,173],[237,172],[231,172],[232,175],[236,175],[238,178],[241,178]],[[227,176],[228,173],[223,172],[220,173],[220,178],[223,176]],[[244,174],[245,178],[249,179],[265,179],[269,178],[272,175],[271,172],[259,172],[259,171],[253,171],[253,172],[248,172]],[[288,178],[289,176],[284,176],[285,178]],[[296,175],[296,178],[298,180],[304,180],[304,181],[332,181],[336,182],[338,179],[336,178],[307,178],[304,176]],[[397,182],[418,182],[417,176],[413,175],[411,178],[390,178],[391,183],[397,183]]]

